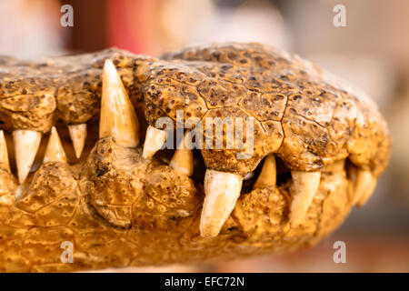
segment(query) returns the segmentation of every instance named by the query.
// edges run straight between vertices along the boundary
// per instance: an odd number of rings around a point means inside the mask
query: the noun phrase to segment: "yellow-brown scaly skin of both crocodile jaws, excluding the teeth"
[[[234,150],[205,149],[206,167],[245,175],[274,154],[284,171],[321,171],[313,204],[301,225],[290,227],[291,179],[247,190],[221,233],[202,238],[203,181],[107,137],[77,165],[43,164],[18,199],[15,177],[0,169],[0,271],[203,262],[312,246],[353,206],[348,166],[379,176],[387,164],[390,136],[371,100],[296,55],[258,44],[186,48],[163,59],[115,49],[39,63],[0,58],[1,128],[45,133],[57,118],[67,125],[97,119],[106,58],[142,128],[175,118],[177,109],[185,118],[253,115],[254,156],[237,160]],[[73,264],[60,261],[64,241],[74,244]]]

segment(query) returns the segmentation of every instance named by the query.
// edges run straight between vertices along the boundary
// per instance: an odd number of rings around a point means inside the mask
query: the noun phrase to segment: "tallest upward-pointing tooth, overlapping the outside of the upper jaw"
[[[99,138],[112,136],[119,146],[139,144],[139,124],[134,106],[111,60],[106,60],[103,73]]]

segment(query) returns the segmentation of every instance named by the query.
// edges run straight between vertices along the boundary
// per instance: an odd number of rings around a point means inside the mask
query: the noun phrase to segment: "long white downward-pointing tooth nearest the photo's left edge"
[[[35,160],[41,134],[33,130],[17,129],[13,132],[15,143],[15,163],[17,165],[18,182],[23,184]]]

